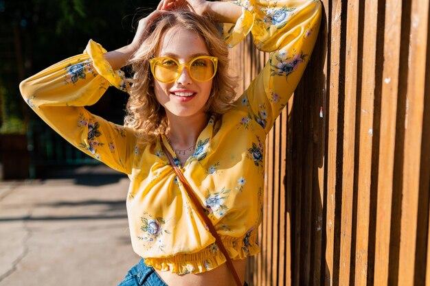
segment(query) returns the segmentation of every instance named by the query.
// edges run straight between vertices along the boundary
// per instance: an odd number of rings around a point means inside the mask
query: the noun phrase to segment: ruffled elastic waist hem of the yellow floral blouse
[[[221,240],[233,260],[245,259],[260,252],[260,247],[256,243],[256,231],[251,231],[243,237],[221,236]],[[216,243],[196,253],[177,254],[166,258],[145,258],[146,265],[179,275],[207,272],[225,262],[226,259]]]

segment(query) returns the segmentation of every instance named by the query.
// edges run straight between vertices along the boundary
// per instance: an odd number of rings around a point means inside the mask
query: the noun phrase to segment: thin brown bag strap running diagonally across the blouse
[[[161,148],[163,148],[163,152],[166,154],[167,158],[169,159],[170,165],[172,165],[174,171],[178,175],[179,180],[181,180],[183,187],[185,187],[185,190],[187,191],[188,195],[190,196],[190,199],[191,199],[192,203],[194,204],[194,209],[197,211],[197,213],[199,214],[199,217],[203,220],[203,222],[205,222],[206,227],[210,230],[210,233],[212,233],[212,236],[215,237],[216,244],[218,245],[218,248],[220,248],[221,252],[223,252],[225,259],[227,260],[227,266],[229,267],[229,270],[230,270],[231,274],[233,275],[233,278],[236,281],[236,284],[238,286],[242,286],[242,283],[240,282],[239,276],[238,276],[236,270],[234,269],[234,265],[231,262],[229,254],[228,254],[227,250],[225,249],[223,241],[221,241],[220,236],[218,235],[218,233],[216,233],[216,229],[215,229],[214,225],[212,224],[210,218],[207,217],[207,215],[205,213],[205,208],[203,208],[203,206],[201,206],[199,199],[197,198],[194,191],[192,191],[190,184],[188,184],[188,181],[183,176],[181,170],[174,163],[172,154],[170,154],[170,152],[166,149],[166,147],[164,146],[162,141],[161,141]]]

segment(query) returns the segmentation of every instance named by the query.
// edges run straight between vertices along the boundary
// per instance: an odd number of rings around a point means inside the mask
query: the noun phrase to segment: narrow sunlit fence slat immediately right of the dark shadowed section
[[[342,1],[332,1],[330,8],[330,33],[328,40],[330,53],[330,81],[328,86],[328,169],[327,169],[327,205],[326,205],[326,274],[325,285],[333,285],[335,271],[335,208],[337,182],[337,111],[339,104],[339,73],[341,42],[341,7]]]

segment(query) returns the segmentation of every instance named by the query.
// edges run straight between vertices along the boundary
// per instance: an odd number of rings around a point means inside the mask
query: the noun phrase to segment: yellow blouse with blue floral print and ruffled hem
[[[231,259],[259,252],[262,218],[264,139],[292,95],[315,45],[321,3],[315,0],[240,0],[243,14],[225,33],[230,47],[251,31],[256,47],[271,52],[264,70],[234,108],[212,116],[181,167],[210,208],[209,217]],[[21,83],[27,104],[49,126],[83,152],[128,174],[127,211],[133,249],[157,270],[200,273],[225,263],[215,239],[193,210],[160,141],[142,143],[139,132],[92,115],[109,86],[127,91],[122,71],[104,60],[92,40],[86,52]],[[179,161],[177,161],[179,165]]]

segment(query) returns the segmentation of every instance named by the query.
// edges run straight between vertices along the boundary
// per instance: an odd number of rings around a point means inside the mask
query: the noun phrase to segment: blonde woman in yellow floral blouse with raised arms
[[[264,138],[302,76],[320,18],[314,0],[164,0],[139,21],[131,45],[106,52],[90,40],[84,53],[21,83],[27,104],[54,130],[131,180],[131,241],[143,259],[120,285],[237,285],[166,152],[245,283],[246,259],[260,250]],[[221,38],[212,21],[234,25]],[[235,99],[227,47],[250,31],[271,56]],[[127,64],[130,80],[119,70]],[[110,85],[131,95],[125,126],[83,107]]]

